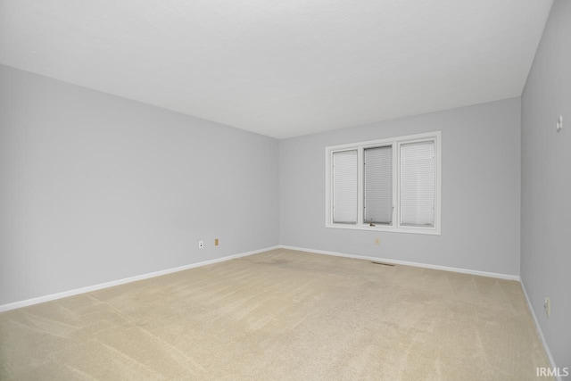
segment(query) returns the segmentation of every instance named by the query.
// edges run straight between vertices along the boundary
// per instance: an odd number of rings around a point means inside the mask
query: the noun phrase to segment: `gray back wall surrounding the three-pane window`
[[[280,244],[519,275],[519,107],[514,98],[280,140]],[[435,130],[442,236],[325,228],[327,145]]]

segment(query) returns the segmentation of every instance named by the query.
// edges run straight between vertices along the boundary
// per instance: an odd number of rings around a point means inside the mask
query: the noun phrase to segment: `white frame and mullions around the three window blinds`
[[[408,143],[416,143],[423,141],[434,141],[434,227],[414,227],[401,226],[400,219],[400,196],[401,196],[401,145]],[[349,145],[332,145],[325,149],[326,156],[326,228],[345,228],[369,231],[387,231],[395,233],[414,233],[414,234],[441,234],[441,187],[442,187],[442,133],[434,131],[424,134],[409,135],[403,137],[391,137],[379,140],[369,140],[366,142],[353,143]],[[392,225],[375,225],[370,226],[363,221],[363,195],[364,195],[364,170],[363,170],[363,151],[366,148],[377,147],[381,145],[393,146],[393,224]],[[332,185],[332,163],[333,153],[347,150],[357,150],[357,223],[345,224],[333,222],[333,185]]]

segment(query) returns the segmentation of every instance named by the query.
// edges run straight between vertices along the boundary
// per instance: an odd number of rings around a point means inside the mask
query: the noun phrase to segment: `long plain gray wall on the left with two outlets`
[[[277,244],[277,158],[269,137],[0,66],[0,305]]]

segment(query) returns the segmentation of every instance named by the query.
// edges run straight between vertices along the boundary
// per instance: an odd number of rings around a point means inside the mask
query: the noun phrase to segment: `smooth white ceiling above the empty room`
[[[0,63],[294,137],[521,95],[551,3],[0,0]]]

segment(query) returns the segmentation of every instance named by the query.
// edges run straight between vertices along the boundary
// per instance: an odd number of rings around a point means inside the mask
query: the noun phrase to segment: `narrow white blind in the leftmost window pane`
[[[357,223],[357,150],[333,153],[333,222]]]

